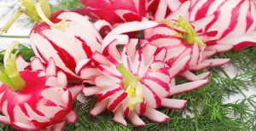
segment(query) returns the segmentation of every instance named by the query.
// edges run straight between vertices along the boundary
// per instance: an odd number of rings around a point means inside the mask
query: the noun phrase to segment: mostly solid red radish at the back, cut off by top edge
[[[80,0],[84,4],[83,14],[96,20],[106,20],[116,24],[143,20],[146,14],[146,0]]]

